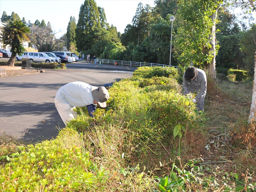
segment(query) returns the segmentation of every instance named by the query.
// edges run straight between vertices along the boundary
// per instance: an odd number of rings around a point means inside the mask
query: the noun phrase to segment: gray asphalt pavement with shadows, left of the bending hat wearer
[[[94,86],[131,77],[132,72],[100,69],[50,70],[0,78],[0,135],[36,142],[56,137],[65,127],[54,105],[64,84],[83,81]]]

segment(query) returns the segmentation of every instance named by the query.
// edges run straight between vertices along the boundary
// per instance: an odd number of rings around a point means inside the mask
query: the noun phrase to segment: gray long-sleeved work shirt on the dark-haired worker
[[[207,87],[207,81],[206,81],[206,75],[205,72],[202,69],[197,70],[197,76],[193,81],[188,82],[185,79],[185,74],[183,75],[183,89],[184,89],[184,95],[188,94],[189,92],[196,91],[198,94],[196,95],[195,100],[199,100],[206,94],[206,87]]]

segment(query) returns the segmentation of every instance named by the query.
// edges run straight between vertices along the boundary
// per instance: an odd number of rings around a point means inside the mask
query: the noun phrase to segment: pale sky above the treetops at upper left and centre
[[[124,33],[126,25],[132,24],[140,2],[143,6],[155,7],[154,0],[96,0],[97,6],[104,8],[109,25],[113,24],[120,33]],[[67,32],[70,16],[75,17],[77,23],[83,3],[84,0],[0,0],[0,18],[4,11],[7,15],[14,11],[27,22],[35,23],[38,19],[47,25],[50,21],[55,32],[60,31],[56,34],[60,37]]]

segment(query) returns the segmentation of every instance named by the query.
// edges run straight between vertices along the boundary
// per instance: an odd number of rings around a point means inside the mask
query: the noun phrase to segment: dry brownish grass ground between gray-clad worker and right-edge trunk
[[[208,150],[203,159],[211,168],[246,175],[256,171],[255,124],[248,125],[252,87],[244,82],[219,81],[208,86],[205,130]],[[217,163],[211,163],[217,162]],[[256,180],[255,176],[253,178]]]

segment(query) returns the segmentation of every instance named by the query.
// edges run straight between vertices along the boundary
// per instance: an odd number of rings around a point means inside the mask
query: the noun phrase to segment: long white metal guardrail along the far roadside
[[[110,65],[128,65],[128,66],[139,66],[139,67],[169,67],[169,65],[157,64],[157,63],[144,63],[144,62],[134,62],[134,61],[119,61],[119,60],[108,60],[108,59],[97,59],[98,63],[110,64]],[[177,66],[172,66],[177,68]]]

